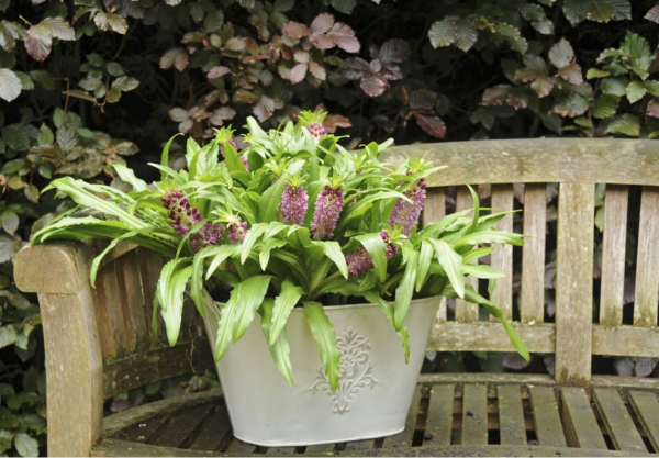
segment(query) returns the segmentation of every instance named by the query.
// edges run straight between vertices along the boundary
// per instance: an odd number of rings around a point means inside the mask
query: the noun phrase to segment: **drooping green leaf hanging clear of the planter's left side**
[[[170,346],[176,345],[181,328],[183,293],[191,273],[192,266],[189,264],[189,258],[179,258],[167,262],[158,279],[156,293]]]

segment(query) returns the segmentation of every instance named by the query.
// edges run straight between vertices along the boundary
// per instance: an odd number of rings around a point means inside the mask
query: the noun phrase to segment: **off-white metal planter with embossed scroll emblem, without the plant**
[[[259,320],[231,345],[217,371],[234,435],[249,444],[286,447],[383,437],[404,429],[439,298],[412,301],[405,320],[410,364],[401,339],[376,304],[327,306],[340,350],[340,381],[332,393],[301,309],[288,322],[295,386],[270,357]],[[214,347],[219,308],[206,304]]]

